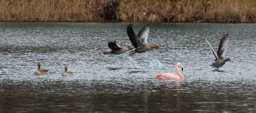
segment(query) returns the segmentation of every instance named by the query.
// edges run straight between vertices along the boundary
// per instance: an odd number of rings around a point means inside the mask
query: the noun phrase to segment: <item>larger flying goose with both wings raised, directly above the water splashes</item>
[[[160,46],[148,46],[147,45],[149,25],[144,26],[139,31],[138,36],[133,31],[133,24],[132,23],[127,25],[126,31],[127,31],[127,34],[128,34],[128,37],[129,37],[131,43],[135,47],[134,49],[132,49],[132,51],[130,51],[131,53],[129,52],[130,53],[129,56],[132,56],[135,53],[143,53],[143,52],[148,51],[148,50],[153,49],[153,48],[161,48]]]

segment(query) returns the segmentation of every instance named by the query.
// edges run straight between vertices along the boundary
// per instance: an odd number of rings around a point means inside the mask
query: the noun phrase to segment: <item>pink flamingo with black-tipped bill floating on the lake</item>
[[[181,70],[183,71],[183,66],[181,65],[181,63],[176,64],[176,71],[179,74],[180,78],[178,75],[175,75],[173,73],[165,73],[162,75],[157,75],[156,78],[163,79],[163,80],[167,80],[167,79],[169,79],[169,80],[184,80],[184,76],[179,71],[179,68],[181,68]]]

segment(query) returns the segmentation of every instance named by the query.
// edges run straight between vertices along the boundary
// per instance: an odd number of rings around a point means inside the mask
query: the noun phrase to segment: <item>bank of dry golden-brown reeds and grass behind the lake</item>
[[[256,23],[256,0],[1,0],[0,21]]]

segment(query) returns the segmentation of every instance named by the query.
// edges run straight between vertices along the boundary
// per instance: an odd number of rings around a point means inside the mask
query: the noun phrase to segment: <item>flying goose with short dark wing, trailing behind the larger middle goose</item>
[[[133,49],[130,47],[118,46],[118,45],[116,45],[116,41],[109,41],[108,47],[110,48],[110,50],[102,52],[104,55],[106,55],[106,54],[119,55],[119,54],[124,53],[125,51],[129,51],[129,50]]]

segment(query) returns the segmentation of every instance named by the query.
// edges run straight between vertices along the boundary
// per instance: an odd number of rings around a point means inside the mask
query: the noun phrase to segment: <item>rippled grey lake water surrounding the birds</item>
[[[103,55],[110,40],[132,47],[128,24],[0,23],[0,112],[256,111],[256,24],[149,23],[148,45],[162,48]],[[226,33],[232,60],[216,70],[205,37],[217,52]],[[184,80],[154,78],[178,62]]]

